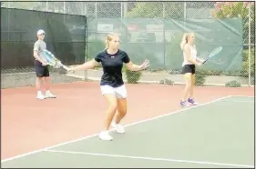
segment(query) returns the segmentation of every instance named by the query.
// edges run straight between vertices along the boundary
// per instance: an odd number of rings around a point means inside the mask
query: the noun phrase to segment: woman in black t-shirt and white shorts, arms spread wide
[[[122,79],[122,67],[125,63],[129,70],[139,71],[149,65],[148,59],[142,65],[134,65],[127,53],[119,49],[119,37],[116,34],[108,35],[106,49],[100,52],[93,60],[77,67],[68,68],[68,71],[90,69],[101,62],[103,75],[100,81],[101,93],[108,101],[108,110],[104,121],[104,130],[98,134],[102,140],[112,140],[108,134],[109,126],[116,128],[118,133],[125,133],[124,127],[120,124],[121,119],[127,114],[127,90]],[[118,110],[118,113],[116,114]],[[115,116],[115,118],[114,118]]]

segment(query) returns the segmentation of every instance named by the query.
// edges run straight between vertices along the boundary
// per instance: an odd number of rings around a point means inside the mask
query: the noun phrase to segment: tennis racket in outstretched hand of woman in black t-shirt
[[[60,68],[63,67],[66,70],[68,67],[66,65],[63,65],[55,55],[53,55],[50,51],[47,51],[46,49],[43,50],[43,53],[40,55],[41,59],[43,59],[47,65],[50,65],[54,68]]]

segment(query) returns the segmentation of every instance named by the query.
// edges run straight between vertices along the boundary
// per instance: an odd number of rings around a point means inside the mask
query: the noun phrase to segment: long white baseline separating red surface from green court
[[[231,97],[231,95],[228,95],[228,96],[224,96],[224,97],[220,97],[218,99],[215,99],[215,100],[212,100],[210,102],[207,102],[207,103],[204,103],[204,104],[199,104],[199,105],[196,105],[196,106],[191,106],[191,107],[188,107],[188,108],[184,108],[184,109],[180,109],[178,111],[175,111],[175,112],[171,112],[169,114],[163,114],[163,115],[159,115],[159,116],[156,116],[156,117],[153,117],[153,118],[148,118],[146,120],[141,120],[141,121],[138,121],[138,122],[135,122],[135,123],[132,123],[132,124],[127,124],[125,125],[125,127],[128,127],[128,126],[132,126],[132,125],[135,125],[135,124],[141,124],[141,123],[145,123],[145,122],[148,122],[148,121],[152,121],[152,120],[155,120],[155,119],[158,119],[158,118],[161,118],[161,117],[165,117],[165,116],[168,116],[168,115],[171,115],[171,114],[178,114],[180,112],[184,112],[186,110],[189,110],[189,109],[192,109],[192,108],[196,108],[196,107],[200,107],[202,105],[206,105],[206,104],[212,104],[214,102],[218,102],[220,100],[223,100],[225,98],[229,98]],[[111,129],[109,131],[114,131],[114,129]],[[48,146],[46,148],[42,148],[42,149],[39,149],[39,150],[36,150],[36,151],[32,151],[32,152],[28,152],[26,154],[19,154],[19,155],[15,155],[13,157],[10,157],[10,158],[6,158],[4,160],[1,160],[1,163],[5,163],[5,162],[8,162],[8,161],[11,161],[11,160],[15,160],[17,158],[21,158],[21,157],[24,157],[24,156],[27,156],[27,155],[30,155],[30,154],[36,154],[36,153],[40,153],[40,152],[43,152],[43,151],[46,151],[48,149],[52,149],[52,148],[56,148],[58,146],[62,146],[62,145],[65,145],[65,144],[72,144],[72,143],[76,143],[78,141],[81,141],[81,140],[86,140],[88,138],[91,138],[91,137],[94,137],[94,136],[97,136],[97,134],[92,134],[92,135],[87,135],[85,137],[81,137],[81,138],[78,138],[76,140],[71,140],[71,141],[68,141],[68,142],[65,142],[65,143],[61,143],[61,144],[56,144],[56,145],[53,145],[53,146]]]

